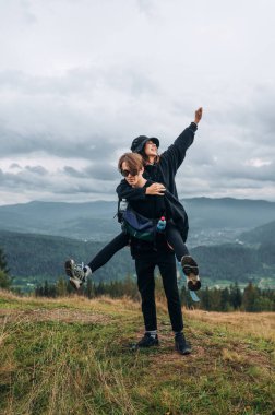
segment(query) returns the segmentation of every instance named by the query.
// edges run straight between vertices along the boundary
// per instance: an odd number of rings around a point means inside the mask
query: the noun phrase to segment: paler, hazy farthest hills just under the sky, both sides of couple
[[[194,198],[182,203],[191,246],[231,241],[243,230],[275,221],[274,202]],[[0,206],[0,229],[106,241],[120,232],[116,212],[117,202],[104,201],[4,205]]]

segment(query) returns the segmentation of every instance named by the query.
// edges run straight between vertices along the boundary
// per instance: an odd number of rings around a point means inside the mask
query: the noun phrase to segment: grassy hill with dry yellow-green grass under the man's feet
[[[273,413],[274,313],[184,311],[193,352],[180,356],[157,308],[160,346],[134,353],[138,303],[0,292],[0,413]]]

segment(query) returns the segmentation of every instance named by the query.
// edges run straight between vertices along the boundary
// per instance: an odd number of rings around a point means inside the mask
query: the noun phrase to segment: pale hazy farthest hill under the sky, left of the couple
[[[29,202],[0,206],[0,229],[105,240],[120,230],[115,202]]]

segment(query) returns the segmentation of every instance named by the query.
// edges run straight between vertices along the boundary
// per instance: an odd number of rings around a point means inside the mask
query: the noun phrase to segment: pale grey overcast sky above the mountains
[[[204,115],[180,198],[275,201],[274,0],[0,0],[0,204],[116,200]]]

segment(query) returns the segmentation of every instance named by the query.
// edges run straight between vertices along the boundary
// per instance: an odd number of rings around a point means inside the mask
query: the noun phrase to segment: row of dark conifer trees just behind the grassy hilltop
[[[162,278],[155,280],[156,298],[165,300]],[[35,289],[35,295],[38,297],[60,297],[75,293],[70,283],[64,278],[59,278],[56,284],[50,284],[47,281],[38,285]],[[181,305],[187,308],[198,308],[207,311],[275,311],[275,290],[261,289],[251,282],[240,289],[238,283],[231,284],[226,288],[203,288],[198,293],[200,303],[193,303],[189,290],[183,285],[180,289]],[[94,283],[92,280],[82,287],[76,295],[87,298],[97,298],[100,296],[109,296],[111,298],[130,297],[134,301],[140,300],[136,282],[128,275],[123,281],[99,282]]]

